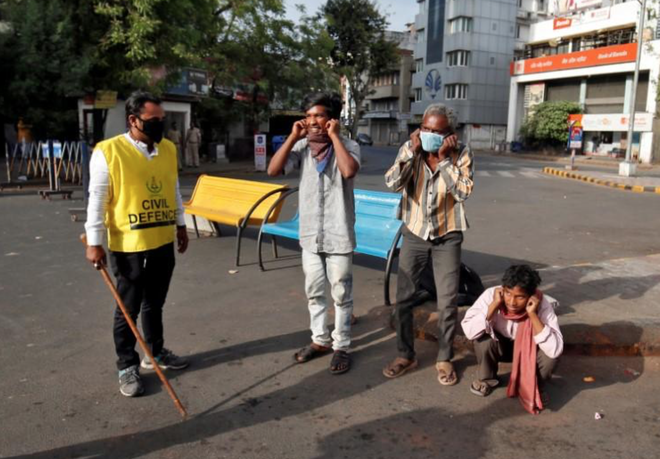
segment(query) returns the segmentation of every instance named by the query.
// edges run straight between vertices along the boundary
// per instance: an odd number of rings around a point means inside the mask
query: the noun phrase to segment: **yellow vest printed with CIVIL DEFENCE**
[[[123,134],[100,142],[108,163],[112,198],[105,214],[108,248],[142,252],[174,241],[176,147],[163,139],[147,159]]]

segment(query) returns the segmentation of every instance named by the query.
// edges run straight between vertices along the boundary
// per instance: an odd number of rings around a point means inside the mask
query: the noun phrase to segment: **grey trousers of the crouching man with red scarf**
[[[539,387],[543,387],[552,377],[559,359],[551,359],[541,349],[536,351],[536,375]],[[474,340],[474,353],[477,356],[477,379],[494,382],[497,379],[498,363],[513,360],[513,340],[498,335],[495,341],[485,334]]]

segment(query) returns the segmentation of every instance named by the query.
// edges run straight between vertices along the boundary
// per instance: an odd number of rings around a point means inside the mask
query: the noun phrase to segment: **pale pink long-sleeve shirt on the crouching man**
[[[474,305],[465,313],[465,318],[461,322],[461,326],[467,339],[475,340],[484,333],[487,333],[497,341],[495,332],[505,338],[516,339],[518,322],[505,319],[499,311],[493,314],[490,321],[486,319],[488,316],[488,306],[493,301],[496,288],[491,287],[482,293]],[[537,315],[544,327],[541,333],[534,335],[534,341],[545,355],[551,359],[556,359],[564,350],[564,338],[559,330],[559,321],[552,306],[553,302],[556,303],[556,300],[548,297],[548,295],[543,295]]]

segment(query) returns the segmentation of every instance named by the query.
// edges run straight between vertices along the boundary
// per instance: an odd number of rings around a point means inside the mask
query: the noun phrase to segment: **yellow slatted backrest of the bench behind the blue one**
[[[239,180],[226,177],[214,177],[202,174],[197,179],[195,190],[186,206],[197,207],[222,212],[231,210],[234,214],[245,215],[250,208],[265,194],[287,188],[286,185]],[[282,193],[274,193],[266,198],[253,212],[251,219],[263,219],[268,209]],[[282,205],[271,214],[269,222],[277,221]]]

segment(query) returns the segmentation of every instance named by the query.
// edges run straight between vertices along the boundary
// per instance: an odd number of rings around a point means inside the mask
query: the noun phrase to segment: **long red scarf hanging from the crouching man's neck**
[[[543,301],[543,293],[540,290],[537,290],[535,295]],[[529,319],[527,311],[514,314],[509,312],[505,306],[500,309],[500,314],[506,320],[518,322],[516,339],[513,342],[513,366],[506,395],[507,397],[517,396],[525,410],[531,414],[538,414],[543,409],[543,402],[536,377],[537,348],[532,321]]]

